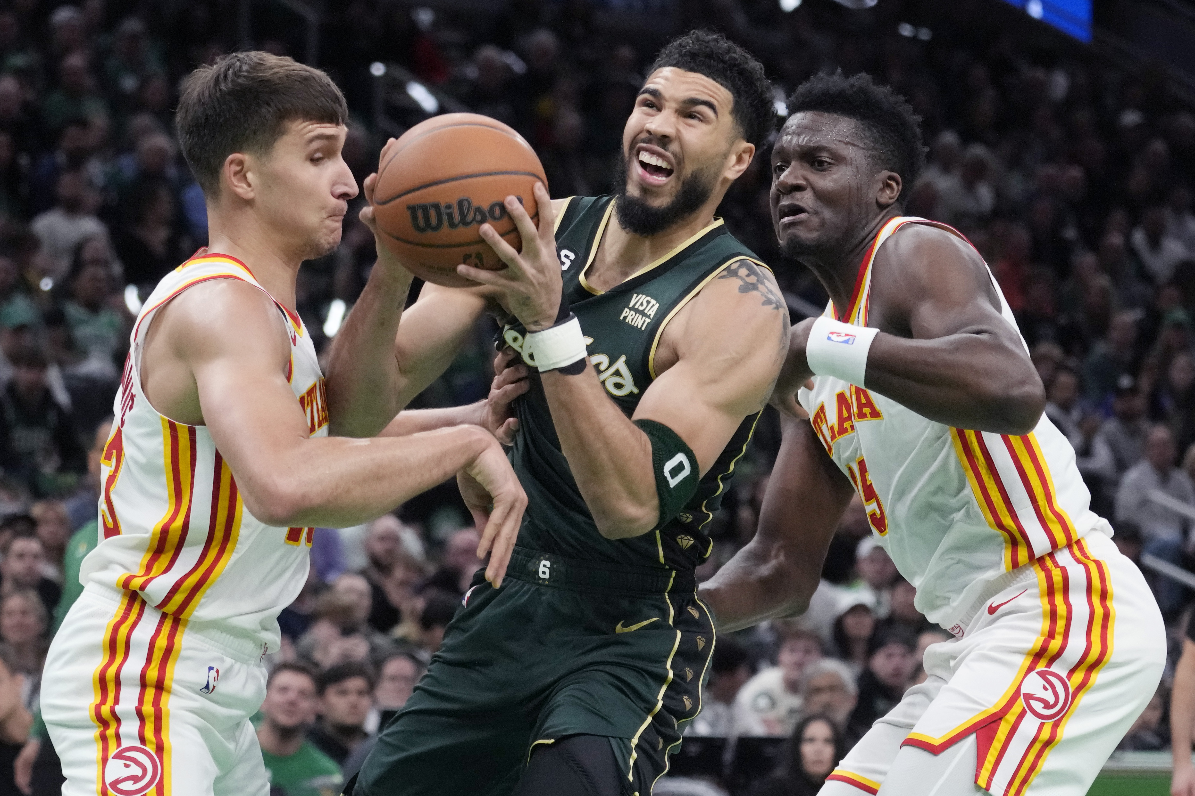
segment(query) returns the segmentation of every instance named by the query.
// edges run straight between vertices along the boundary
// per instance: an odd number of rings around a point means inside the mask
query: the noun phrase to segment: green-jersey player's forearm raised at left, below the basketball
[[[331,433],[372,437],[403,408],[394,339],[410,286],[409,273],[375,265],[332,341],[327,363]]]

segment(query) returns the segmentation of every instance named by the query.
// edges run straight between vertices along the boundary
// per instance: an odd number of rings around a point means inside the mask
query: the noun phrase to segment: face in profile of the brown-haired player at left
[[[345,132],[344,125],[293,122],[257,162],[257,210],[305,260],[339,246],[348,200],[357,195],[341,158]]]

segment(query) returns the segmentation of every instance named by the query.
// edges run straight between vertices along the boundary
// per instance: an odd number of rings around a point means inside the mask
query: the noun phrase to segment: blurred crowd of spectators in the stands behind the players
[[[667,24],[619,24],[623,5]],[[999,27],[950,27],[949,14],[938,27],[912,19],[948,5],[979,13],[997,4],[891,0],[856,12],[809,0],[785,13],[774,0],[345,0],[321,20],[318,66],[349,99],[344,156],[358,180],[392,135],[379,127],[370,72],[381,62],[520,130],[556,197],[608,190],[643,69],[669,30],[717,27],[755,53],[776,80],[780,116],[785,94],[819,70],[870,72],[923,117],[929,167],[906,186],[906,210],[957,227],[991,264],[1093,508],[1134,560],[1183,566],[1191,522],[1176,505],[1195,507],[1195,112],[1160,73],[1109,66],[1053,33],[1038,45]],[[239,8],[0,4],[4,792],[12,760],[36,742],[42,659],[97,532],[105,418],[134,313],[206,242],[202,193],[171,125],[179,81],[244,45],[246,30],[253,47],[305,54],[280,6],[256,4],[244,19]],[[393,118],[418,121],[409,110]],[[765,162],[756,158],[719,214],[774,267],[796,320],[820,311],[826,295],[777,249]],[[336,331],[325,327],[329,304],[351,306],[373,263],[373,239],[355,217],[361,200],[339,249],[300,274],[299,310],[320,350]],[[491,333],[479,325],[418,405],[484,397]],[[715,519],[700,576],[754,533],[777,445],[768,419]],[[338,792],[403,705],[479,566],[467,517],[448,485],[368,525],[317,530],[311,579],[280,618],[284,644],[269,661],[258,717],[280,792]],[[924,677],[924,648],[949,637],[917,611],[915,588],[871,541],[858,504],[823,576],[804,617],[717,640],[703,712],[675,758],[675,772],[705,784],[684,792],[816,792],[844,749]],[[1151,578],[1177,638],[1190,594]],[[1164,690],[1122,748],[1166,747]],[[681,792],[678,783],[664,778],[656,792]]]

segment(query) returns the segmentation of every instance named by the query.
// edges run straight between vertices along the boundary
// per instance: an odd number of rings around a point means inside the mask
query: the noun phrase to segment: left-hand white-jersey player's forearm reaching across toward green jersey
[[[369,522],[447,481],[498,443],[477,426],[406,437],[304,440],[270,457],[271,471],[235,474],[245,506],[275,526]]]

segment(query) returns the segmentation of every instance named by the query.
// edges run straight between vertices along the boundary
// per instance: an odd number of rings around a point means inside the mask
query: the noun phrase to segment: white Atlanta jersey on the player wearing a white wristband
[[[924,218],[893,218],[864,258],[851,306],[838,314],[831,302],[827,315],[868,326],[876,252],[906,223],[962,237]],[[1017,328],[995,279],[992,284],[1000,314]],[[1089,508],[1074,450],[1044,414],[1021,437],[952,428],[831,376],[815,376],[813,390],[802,389],[797,400],[863,499],[872,537],[917,587],[918,610],[944,628],[952,628],[1001,574],[1066,547],[1097,524],[1111,532]]]

